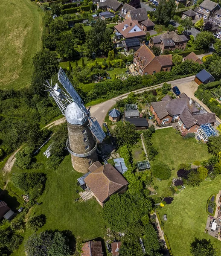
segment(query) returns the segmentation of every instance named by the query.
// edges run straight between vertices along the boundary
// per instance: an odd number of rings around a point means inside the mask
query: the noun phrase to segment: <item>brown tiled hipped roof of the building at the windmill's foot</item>
[[[91,172],[84,181],[101,203],[128,185],[127,180],[110,163]]]

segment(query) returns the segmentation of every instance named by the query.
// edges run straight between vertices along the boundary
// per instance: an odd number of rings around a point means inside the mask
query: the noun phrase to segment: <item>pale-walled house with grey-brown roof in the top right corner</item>
[[[194,9],[196,13],[196,18],[203,18],[204,20],[212,17],[215,12],[220,9],[218,3],[212,2],[210,0],[204,0],[203,3],[200,4],[199,7]]]

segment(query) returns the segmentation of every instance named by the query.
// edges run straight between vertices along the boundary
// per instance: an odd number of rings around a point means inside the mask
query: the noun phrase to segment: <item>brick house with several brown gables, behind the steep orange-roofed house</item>
[[[161,51],[174,49],[185,50],[188,38],[185,35],[177,35],[174,31],[167,31],[162,35],[154,36],[150,39],[149,48],[160,47]]]

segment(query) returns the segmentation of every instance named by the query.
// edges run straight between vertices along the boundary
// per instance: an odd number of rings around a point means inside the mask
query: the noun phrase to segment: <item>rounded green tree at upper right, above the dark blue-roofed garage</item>
[[[203,31],[199,33],[194,41],[195,48],[198,50],[208,49],[215,41],[212,32]]]

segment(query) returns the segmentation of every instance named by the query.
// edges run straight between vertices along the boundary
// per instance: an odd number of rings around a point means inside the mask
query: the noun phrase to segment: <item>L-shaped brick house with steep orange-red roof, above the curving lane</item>
[[[134,54],[134,66],[141,76],[170,71],[172,64],[171,54],[155,56],[144,43]]]

